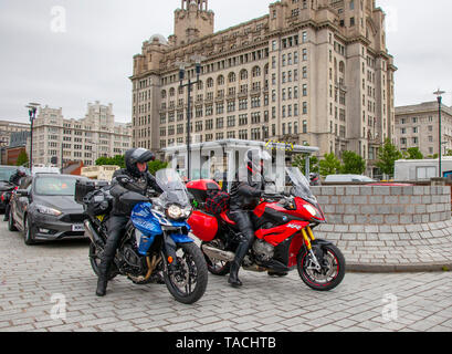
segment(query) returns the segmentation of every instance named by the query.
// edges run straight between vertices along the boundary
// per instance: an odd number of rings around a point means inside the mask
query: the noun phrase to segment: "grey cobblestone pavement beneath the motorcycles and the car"
[[[282,279],[243,271],[243,289],[211,275],[204,296],[183,305],[165,285],[125,278],[109,283],[107,296],[95,296],[87,248],[85,241],[27,247],[0,222],[0,332],[452,332],[450,272],[347,273],[320,293],[296,271]],[[65,312],[56,311],[64,304]]]

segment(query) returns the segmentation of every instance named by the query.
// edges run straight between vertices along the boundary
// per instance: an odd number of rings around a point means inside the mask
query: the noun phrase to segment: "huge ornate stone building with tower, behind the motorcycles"
[[[269,14],[213,31],[207,0],[182,0],[175,34],[153,35],[134,56],[134,145],[186,144],[180,62],[202,55],[191,92],[193,140],[309,144],[320,155],[367,160],[395,134],[393,59],[375,0],[282,0]],[[187,69],[196,80],[195,66]],[[186,79],[188,79],[186,75]]]

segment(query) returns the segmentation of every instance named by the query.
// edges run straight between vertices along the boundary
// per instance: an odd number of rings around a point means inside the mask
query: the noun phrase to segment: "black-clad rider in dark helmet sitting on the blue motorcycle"
[[[126,206],[119,201],[122,195],[127,191],[135,191],[146,195],[149,189],[161,194],[162,190],[157,185],[155,177],[148,171],[148,162],[154,160],[155,156],[145,148],[134,148],[126,152],[126,168],[115,171],[112,180],[111,195],[114,197],[113,210],[107,221],[108,238],[102,254],[101,264],[98,266],[98,281],[96,295],[104,296],[107,289],[108,275],[119,247],[119,241],[124,236],[125,228],[130,218],[130,212]],[[125,176],[129,183],[122,184],[118,178]],[[156,280],[157,282],[160,282]]]

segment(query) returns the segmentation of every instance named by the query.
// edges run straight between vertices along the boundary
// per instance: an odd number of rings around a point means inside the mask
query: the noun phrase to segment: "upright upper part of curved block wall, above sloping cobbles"
[[[411,225],[451,219],[451,187],[312,187],[329,223]]]

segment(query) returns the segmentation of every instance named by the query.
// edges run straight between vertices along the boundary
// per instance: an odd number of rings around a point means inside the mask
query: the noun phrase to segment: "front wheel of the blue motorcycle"
[[[164,279],[170,294],[179,302],[192,304],[206,292],[208,270],[201,250],[195,243],[178,243],[177,264],[165,267]]]

